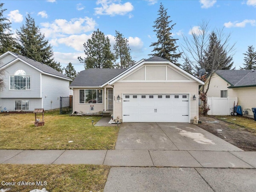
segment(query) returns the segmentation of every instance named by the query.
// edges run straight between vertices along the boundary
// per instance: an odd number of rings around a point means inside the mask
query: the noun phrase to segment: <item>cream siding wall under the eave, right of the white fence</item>
[[[256,87],[230,88],[228,94],[232,97],[238,97],[238,105],[241,106],[242,111],[250,109],[248,116],[253,117],[252,108],[256,107]]]

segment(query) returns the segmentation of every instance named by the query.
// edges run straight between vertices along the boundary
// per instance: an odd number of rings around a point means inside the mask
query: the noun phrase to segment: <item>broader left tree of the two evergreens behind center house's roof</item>
[[[85,58],[78,57],[84,68],[113,68],[114,54],[110,51],[110,40],[99,29],[84,43]]]

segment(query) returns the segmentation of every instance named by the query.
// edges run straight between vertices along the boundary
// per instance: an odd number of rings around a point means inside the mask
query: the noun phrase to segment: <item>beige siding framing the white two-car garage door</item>
[[[115,98],[122,94],[190,94],[190,120],[198,116],[197,82],[115,82]],[[196,95],[196,100],[193,96]],[[122,99],[120,99],[122,101]],[[114,118],[122,118],[122,102],[114,102]]]

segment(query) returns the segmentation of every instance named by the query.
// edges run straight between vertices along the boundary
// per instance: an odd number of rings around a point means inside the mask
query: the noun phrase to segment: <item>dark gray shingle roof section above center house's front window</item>
[[[70,84],[70,87],[98,87],[125,70],[126,69],[108,68],[90,68],[83,70],[76,76],[76,78]]]

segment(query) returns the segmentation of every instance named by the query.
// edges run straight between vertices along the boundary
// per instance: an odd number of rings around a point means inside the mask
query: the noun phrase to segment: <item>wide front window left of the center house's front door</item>
[[[102,89],[80,89],[79,103],[102,103],[102,92]]]

